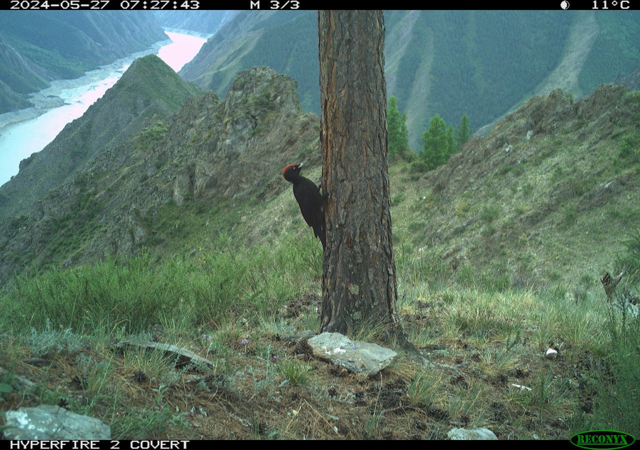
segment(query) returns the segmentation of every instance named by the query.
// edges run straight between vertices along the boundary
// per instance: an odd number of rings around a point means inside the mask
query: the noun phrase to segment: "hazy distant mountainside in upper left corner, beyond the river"
[[[81,77],[166,39],[147,12],[0,12],[0,113],[28,108],[27,94],[49,81]]]

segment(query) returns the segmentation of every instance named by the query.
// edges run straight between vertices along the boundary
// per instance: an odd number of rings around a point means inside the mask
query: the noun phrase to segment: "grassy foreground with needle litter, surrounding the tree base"
[[[114,438],[434,438],[451,423],[499,438],[637,433],[640,326],[589,294],[576,303],[505,287],[399,251],[399,317],[423,356],[401,351],[369,379],[282,339],[318,325],[319,269],[303,248],[227,249],[177,261],[143,252],[20,279],[1,299],[3,408],[47,399],[99,417]],[[212,368],[110,344],[154,333]],[[364,326],[360,338],[381,333]],[[543,358],[549,347],[556,360]]]

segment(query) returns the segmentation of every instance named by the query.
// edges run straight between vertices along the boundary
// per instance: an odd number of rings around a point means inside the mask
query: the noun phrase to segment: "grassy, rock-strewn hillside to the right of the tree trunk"
[[[397,166],[394,236],[496,278],[594,282],[640,218],[639,120],[640,95],[612,84],[533,97],[415,185]]]

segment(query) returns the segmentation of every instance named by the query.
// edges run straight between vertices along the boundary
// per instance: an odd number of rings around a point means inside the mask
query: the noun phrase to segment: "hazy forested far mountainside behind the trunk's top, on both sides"
[[[414,150],[429,118],[493,124],[534,94],[575,99],[640,62],[640,12],[385,12],[388,95],[406,111]],[[268,65],[298,82],[319,114],[317,13],[239,12],[180,74],[224,95],[244,68]]]

